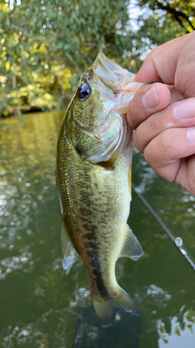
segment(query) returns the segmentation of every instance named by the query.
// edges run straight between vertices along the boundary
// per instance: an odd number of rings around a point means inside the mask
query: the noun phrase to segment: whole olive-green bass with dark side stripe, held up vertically
[[[80,77],[58,137],[62,266],[68,274],[78,255],[83,259],[102,326],[110,326],[120,310],[140,313],[115,276],[118,258],[143,255],[126,223],[133,147],[126,113],[144,85],[134,76],[100,52]]]

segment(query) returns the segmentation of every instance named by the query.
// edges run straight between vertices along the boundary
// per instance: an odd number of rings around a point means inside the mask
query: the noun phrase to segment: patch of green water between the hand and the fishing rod
[[[181,237],[195,259],[195,197],[180,185],[159,177],[134,150],[133,182],[173,235]]]

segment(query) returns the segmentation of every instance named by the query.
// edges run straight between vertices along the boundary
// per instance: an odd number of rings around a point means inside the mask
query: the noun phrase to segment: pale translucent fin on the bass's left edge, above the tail
[[[68,235],[63,219],[62,219],[62,227],[61,227],[61,246],[62,246],[62,267],[66,271],[66,274],[68,274],[72,265],[78,258],[78,253],[76,252],[71,242],[71,239]]]

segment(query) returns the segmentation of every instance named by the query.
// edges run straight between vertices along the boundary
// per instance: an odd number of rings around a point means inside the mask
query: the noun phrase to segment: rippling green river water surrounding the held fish
[[[135,192],[128,223],[145,255],[120,259],[116,273],[142,316],[119,313],[101,328],[83,263],[65,276],[55,179],[62,115],[0,125],[0,347],[194,348],[194,271]],[[158,177],[136,150],[133,182],[195,258],[194,196]]]

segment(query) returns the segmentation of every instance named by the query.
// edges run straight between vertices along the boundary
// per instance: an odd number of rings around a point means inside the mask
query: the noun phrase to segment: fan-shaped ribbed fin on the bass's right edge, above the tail
[[[119,258],[126,257],[137,261],[143,254],[144,251],[141,244],[138,242],[137,237],[135,237],[130,227],[126,225],[126,237]]]

